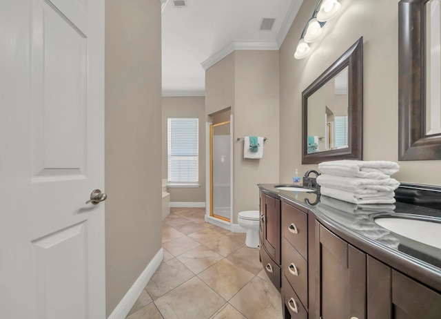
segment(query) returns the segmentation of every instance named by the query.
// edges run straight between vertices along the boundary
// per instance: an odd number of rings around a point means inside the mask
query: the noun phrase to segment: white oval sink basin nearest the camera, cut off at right
[[[374,218],[376,224],[411,240],[441,249],[441,222],[414,218]]]

